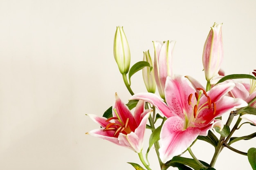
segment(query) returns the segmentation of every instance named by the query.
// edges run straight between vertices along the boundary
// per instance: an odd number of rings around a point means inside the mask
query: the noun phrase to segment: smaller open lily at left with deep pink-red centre
[[[86,134],[106,139],[140,153],[143,148],[146,123],[152,109],[144,110],[145,102],[140,100],[135,108],[134,115],[132,115],[129,108],[119,99],[117,93],[115,97],[116,101],[112,107],[113,117],[107,119],[106,117],[88,114],[102,128],[92,130]]]

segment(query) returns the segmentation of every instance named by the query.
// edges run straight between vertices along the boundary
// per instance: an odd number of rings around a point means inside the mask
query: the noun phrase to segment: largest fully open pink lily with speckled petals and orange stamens
[[[166,103],[153,93],[132,96],[132,99],[150,102],[167,118],[159,140],[163,163],[184,152],[198,135],[206,136],[216,117],[247,106],[242,99],[225,96],[232,88],[234,83],[221,84],[206,93],[203,89],[195,89],[185,77],[176,76],[167,77]]]

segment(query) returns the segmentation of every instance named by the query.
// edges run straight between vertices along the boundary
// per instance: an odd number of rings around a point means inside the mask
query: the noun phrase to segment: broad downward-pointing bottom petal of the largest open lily
[[[178,116],[169,117],[160,132],[159,157],[163,163],[184,152],[198,137],[199,128],[184,130],[184,121]]]

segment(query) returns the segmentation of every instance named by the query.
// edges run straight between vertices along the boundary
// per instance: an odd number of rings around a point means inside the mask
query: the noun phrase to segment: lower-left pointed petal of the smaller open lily
[[[114,133],[115,133],[114,131],[103,131],[103,129],[100,128],[100,129],[91,130],[86,134],[94,137],[99,137],[101,139],[106,139],[108,141],[111,141],[114,144],[120,145],[117,137],[114,137]]]

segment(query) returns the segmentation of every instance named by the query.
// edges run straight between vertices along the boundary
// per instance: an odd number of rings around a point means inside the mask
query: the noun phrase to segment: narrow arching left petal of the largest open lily
[[[168,108],[168,106],[162,101],[162,99],[159,96],[157,96],[154,93],[137,93],[133,95],[130,99],[139,99],[149,102],[153,104],[153,106],[155,106],[157,110],[163,113],[163,115],[166,117],[176,115],[171,113],[171,110]]]

